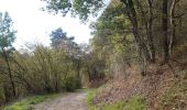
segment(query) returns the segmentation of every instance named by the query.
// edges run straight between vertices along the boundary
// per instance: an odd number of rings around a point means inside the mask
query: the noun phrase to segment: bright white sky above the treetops
[[[77,43],[89,42],[89,24],[81,24],[70,15],[63,18],[41,11],[44,4],[41,0],[0,0],[0,12],[9,12],[13,28],[18,31],[13,44],[15,48],[35,43],[50,45],[50,33],[57,28],[62,28],[68,36],[75,36]]]

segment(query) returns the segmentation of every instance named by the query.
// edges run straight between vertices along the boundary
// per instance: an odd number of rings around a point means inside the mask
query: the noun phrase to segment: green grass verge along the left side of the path
[[[2,110],[32,110],[34,105],[50,99],[54,99],[61,95],[62,94],[51,94],[51,95],[38,95],[38,96],[28,97],[18,102],[14,102],[13,105],[4,107]]]

